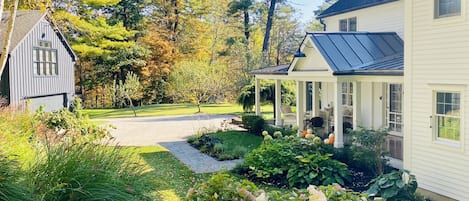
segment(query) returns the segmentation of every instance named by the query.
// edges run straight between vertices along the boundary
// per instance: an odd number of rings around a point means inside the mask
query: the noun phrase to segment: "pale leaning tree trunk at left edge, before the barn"
[[[10,19],[8,21],[8,27],[6,30],[5,41],[3,42],[2,55],[0,56],[0,78],[2,77],[3,70],[7,63],[8,55],[10,53],[10,40],[11,34],[13,33],[13,28],[15,26],[16,10],[18,10],[19,0],[15,0],[13,5],[10,7]],[[3,10],[4,0],[1,0],[0,4],[2,5],[1,9]],[[2,12],[3,13],[3,12]],[[1,16],[0,16],[1,20]]]

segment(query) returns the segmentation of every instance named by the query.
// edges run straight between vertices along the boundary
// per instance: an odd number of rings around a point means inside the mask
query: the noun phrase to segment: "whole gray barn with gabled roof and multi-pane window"
[[[0,23],[3,44],[9,12]],[[3,54],[3,52],[2,52]],[[8,60],[0,80],[0,95],[10,104],[30,100],[30,109],[68,107],[75,95],[76,56],[48,15],[40,11],[18,11]]]

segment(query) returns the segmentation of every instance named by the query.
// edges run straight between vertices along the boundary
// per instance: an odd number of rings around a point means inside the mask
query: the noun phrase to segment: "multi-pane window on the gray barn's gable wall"
[[[34,75],[58,75],[57,50],[52,43],[40,41],[39,46],[33,48]]]

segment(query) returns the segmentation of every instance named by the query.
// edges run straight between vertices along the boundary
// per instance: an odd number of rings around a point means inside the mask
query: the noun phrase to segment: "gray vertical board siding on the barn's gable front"
[[[34,75],[33,48],[38,47],[40,41],[51,42],[52,49],[57,50],[58,75]],[[72,100],[74,61],[44,17],[10,52],[9,62],[11,103],[59,94],[66,94],[68,101]]]

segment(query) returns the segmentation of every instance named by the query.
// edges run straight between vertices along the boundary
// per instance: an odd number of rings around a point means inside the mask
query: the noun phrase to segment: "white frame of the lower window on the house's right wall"
[[[464,139],[466,138],[465,136],[465,130],[464,130],[464,119],[465,119],[465,90],[466,90],[466,85],[448,85],[448,84],[438,84],[438,85],[431,85],[433,90],[432,90],[432,101],[431,101],[431,107],[432,107],[432,115],[430,116],[431,119],[431,128],[432,128],[432,141],[435,144],[439,145],[444,145],[445,147],[455,147],[455,148],[461,148],[464,149]],[[442,92],[442,93],[459,93],[459,140],[450,140],[450,139],[445,139],[445,138],[440,138],[438,137],[438,121],[437,121],[437,93]]]

